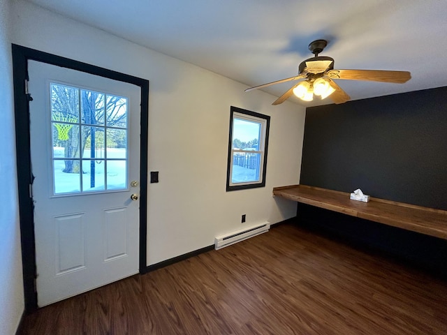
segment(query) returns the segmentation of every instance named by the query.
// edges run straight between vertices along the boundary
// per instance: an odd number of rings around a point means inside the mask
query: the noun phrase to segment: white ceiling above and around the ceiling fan
[[[319,38],[335,68],[411,72],[405,84],[339,80],[352,100],[447,86],[445,0],[29,1],[247,87],[296,75]],[[331,103],[317,99],[305,105]]]

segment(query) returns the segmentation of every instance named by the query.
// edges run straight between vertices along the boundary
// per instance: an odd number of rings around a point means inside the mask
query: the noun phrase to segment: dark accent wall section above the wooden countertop
[[[447,87],[307,108],[300,184],[447,210]]]

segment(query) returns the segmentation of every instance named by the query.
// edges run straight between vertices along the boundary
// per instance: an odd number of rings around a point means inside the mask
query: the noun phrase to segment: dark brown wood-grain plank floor
[[[295,225],[41,308],[20,334],[447,334],[447,283]]]

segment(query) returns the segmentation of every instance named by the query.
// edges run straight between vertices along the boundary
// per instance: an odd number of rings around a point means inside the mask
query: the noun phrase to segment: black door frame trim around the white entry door
[[[31,198],[33,175],[31,172],[31,146],[29,134],[29,101],[31,94],[27,91],[28,61],[71,68],[92,75],[135,84],[141,89],[141,126],[140,126],[140,274],[147,272],[147,137],[148,137],[148,103],[149,80],[126,75],[106,68],[56,56],[29,47],[12,45],[13,77],[15,104],[15,145],[17,152],[17,181],[20,214],[20,239],[22,242],[22,266],[24,302],[27,313],[36,310],[36,241],[34,237],[34,204]]]

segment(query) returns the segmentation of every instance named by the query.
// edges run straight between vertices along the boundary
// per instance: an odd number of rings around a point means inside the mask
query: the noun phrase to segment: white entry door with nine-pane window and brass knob
[[[29,61],[38,306],[138,273],[140,87]]]

